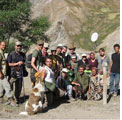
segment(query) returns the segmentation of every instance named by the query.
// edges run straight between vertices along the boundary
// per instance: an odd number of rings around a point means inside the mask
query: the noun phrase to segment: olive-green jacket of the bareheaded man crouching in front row
[[[73,82],[80,83],[83,90],[86,90],[88,88],[88,85],[89,85],[89,80],[90,80],[90,78],[88,75],[86,75],[85,73],[83,75],[80,75],[80,73],[77,72],[75,74],[75,78],[74,78]]]

